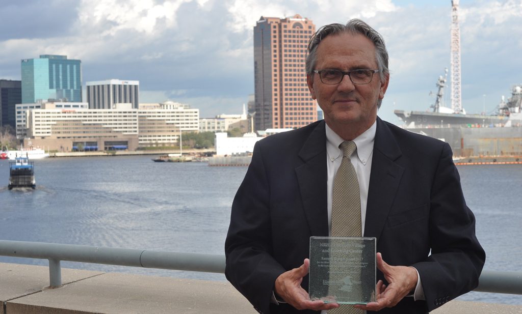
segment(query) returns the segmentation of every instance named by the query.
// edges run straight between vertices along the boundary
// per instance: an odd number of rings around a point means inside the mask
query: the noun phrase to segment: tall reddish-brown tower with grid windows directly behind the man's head
[[[306,84],[311,20],[261,17],[254,27],[255,129],[299,128],[317,120]]]

